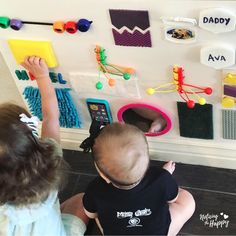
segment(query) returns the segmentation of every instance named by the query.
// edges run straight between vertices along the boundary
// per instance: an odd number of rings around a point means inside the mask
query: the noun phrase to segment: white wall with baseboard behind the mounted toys
[[[91,30],[73,35],[56,34],[49,26],[25,25],[20,31],[10,28],[0,29],[0,51],[15,78],[14,71],[20,68],[6,43],[7,39],[49,40],[52,42],[59,61],[57,72],[65,75],[75,85],[75,101],[78,102],[83,129],[61,129],[63,145],[78,149],[79,143],[86,138],[89,115],[84,107],[86,97],[106,98],[111,105],[113,117],[121,105],[131,101],[142,101],[162,107],[173,121],[172,130],[162,137],[149,138],[153,159],[217,166],[236,169],[236,141],[222,139],[221,126],[221,81],[222,71],[200,64],[200,48],[213,42],[224,42],[235,47],[236,34],[215,35],[196,27],[197,42],[188,45],[174,44],[163,39],[163,25],[160,16],[183,16],[198,19],[199,12],[206,8],[224,7],[236,13],[235,1],[165,1],[165,0],[41,0],[14,1],[1,0],[0,15],[19,18],[25,21],[54,22],[57,20],[77,21],[87,18],[93,21]],[[111,32],[109,9],[147,10],[150,17],[152,48],[122,47],[114,45]],[[98,75],[94,47],[101,45],[106,49],[108,61],[118,65],[131,66],[136,69],[136,78],[129,82],[134,93],[127,91],[110,92],[94,89],[93,79]],[[189,139],[179,136],[176,101],[181,101],[177,94],[156,94],[148,96],[145,89],[155,87],[171,80],[171,69],[174,64],[184,67],[187,83],[211,86],[214,94],[207,97],[207,102],[214,105],[214,139]],[[232,68],[236,70],[235,68]],[[75,82],[81,80],[81,73],[87,77],[86,93],[82,93]],[[91,82],[90,82],[91,80]],[[22,93],[25,83],[15,78],[16,85]],[[30,83],[30,82],[27,82]],[[135,90],[138,85],[139,93]],[[81,85],[83,86],[83,85]],[[125,85],[120,85],[125,86]],[[135,93],[136,91],[136,93]],[[136,96],[137,95],[137,96]],[[122,99],[121,99],[122,97]],[[138,98],[140,97],[140,98]]]

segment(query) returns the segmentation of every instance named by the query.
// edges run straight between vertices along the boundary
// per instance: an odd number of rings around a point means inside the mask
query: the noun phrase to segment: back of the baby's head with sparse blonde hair
[[[133,125],[107,125],[95,140],[93,157],[111,182],[132,185],[140,181],[149,165],[146,137]]]

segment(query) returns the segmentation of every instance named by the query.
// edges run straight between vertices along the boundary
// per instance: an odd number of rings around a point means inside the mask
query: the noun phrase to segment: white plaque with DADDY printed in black
[[[199,27],[213,33],[225,33],[235,30],[236,17],[226,9],[215,8],[200,12]]]

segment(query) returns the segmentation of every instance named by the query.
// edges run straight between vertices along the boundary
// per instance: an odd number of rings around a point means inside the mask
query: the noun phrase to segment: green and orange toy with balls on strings
[[[108,80],[108,85],[109,86],[114,86],[116,81],[115,79],[110,78],[110,74],[112,75],[117,75],[123,77],[125,80],[129,80],[131,78],[131,75],[135,73],[133,68],[130,67],[122,67],[122,66],[117,66],[114,64],[107,63],[107,56],[105,54],[105,49],[96,45],[95,48],[95,53],[96,53],[96,60],[97,60],[97,65],[98,65],[98,70],[99,70],[99,80],[100,80],[100,72],[104,74],[104,76]],[[98,90],[102,89],[103,84],[101,81],[96,83],[96,88]]]

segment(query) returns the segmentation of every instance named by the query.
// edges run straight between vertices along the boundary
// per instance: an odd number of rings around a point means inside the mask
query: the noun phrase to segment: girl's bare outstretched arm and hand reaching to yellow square
[[[42,138],[53,138],[60,142],[58,102],[44,59],[36,56],[26,57],[21,64],[36,79],[42,102]]]

